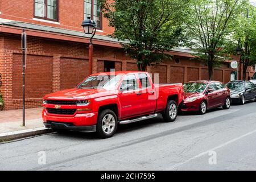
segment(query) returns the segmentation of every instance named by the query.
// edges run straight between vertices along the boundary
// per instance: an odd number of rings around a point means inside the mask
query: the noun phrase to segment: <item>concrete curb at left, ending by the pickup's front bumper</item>
[[[9,140],[15,140],[19,138],[33,137],[36,135],[42,135],[54,132],[52,129],[47,129],[46,127],[38,127],[36,129],[12,131],[8,133],[0,134],[0,142],[6,142]]]

